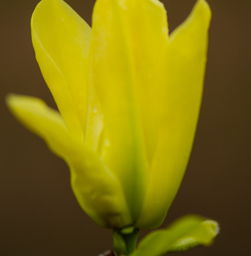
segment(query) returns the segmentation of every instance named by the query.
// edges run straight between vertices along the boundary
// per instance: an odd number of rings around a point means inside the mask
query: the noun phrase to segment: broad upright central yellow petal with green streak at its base
[[[136,218],[155,148],[149,102],[162,79],[166,12],[157,0],[97,0],[92,29],[90,83],[104,114],[103,158],[119,176]]]

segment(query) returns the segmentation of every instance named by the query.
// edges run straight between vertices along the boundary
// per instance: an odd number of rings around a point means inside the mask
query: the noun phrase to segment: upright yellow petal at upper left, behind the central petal
[[[91,28],[63,0],[42,0],[31,18],[36,59],[67,126],[83,139]]]

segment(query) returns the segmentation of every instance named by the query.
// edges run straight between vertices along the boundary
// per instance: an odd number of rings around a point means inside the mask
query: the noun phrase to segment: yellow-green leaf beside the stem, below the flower
[[[166,229],[148,234],[131,256],[158,256],[185,251],[196,245],[210,245],[218,234],[218,223],[196,215],[182,217]]]

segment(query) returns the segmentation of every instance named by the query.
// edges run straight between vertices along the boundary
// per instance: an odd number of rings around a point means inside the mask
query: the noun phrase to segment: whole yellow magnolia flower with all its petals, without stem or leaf
[[[78,203],[100,226],[165,218],[195,136],[210,18],[198,0],[169,36],[158,0],[97,0],[92,29],[63,0],[36,7],[32,42],[60,112],[30,96],[7,102],[66,161]]]

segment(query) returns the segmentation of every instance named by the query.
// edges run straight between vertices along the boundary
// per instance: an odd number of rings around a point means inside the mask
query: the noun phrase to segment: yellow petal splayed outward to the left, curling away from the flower
[[[121,228],[132,223],[118,179],[69,132],[58,111],[29,96],[10,95],[7,104],[22,124],[67,162],[78,203],[97,224]]]

